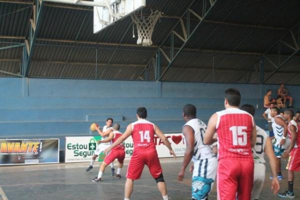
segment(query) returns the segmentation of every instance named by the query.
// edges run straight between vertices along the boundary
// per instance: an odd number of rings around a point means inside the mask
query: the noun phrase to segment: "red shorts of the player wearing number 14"
[[[147,165],[153,178],[158,178],[162,173],[162,168],[157,156],[156,149],[133,150],[132,157],[128,164],[126,177],[131,180],[140,178],[144,165]]]

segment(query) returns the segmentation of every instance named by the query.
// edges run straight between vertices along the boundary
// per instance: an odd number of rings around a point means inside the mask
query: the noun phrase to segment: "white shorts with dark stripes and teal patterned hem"
[[[191,196],[193,199],[206,199],[215,180],[217,158],[210,157],[194,161]]]

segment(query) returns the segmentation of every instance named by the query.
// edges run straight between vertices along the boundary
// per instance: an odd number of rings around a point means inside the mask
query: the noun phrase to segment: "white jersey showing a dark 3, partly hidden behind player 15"
[[[256,142],[254,147],[252,147],[252,154],[254,163],[264,163],[264,148],[266,142],[267,134],[266,132],[256,125]]]

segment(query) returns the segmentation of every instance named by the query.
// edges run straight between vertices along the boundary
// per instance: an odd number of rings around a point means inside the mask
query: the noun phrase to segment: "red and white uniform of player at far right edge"
[[[287,132],[290,139],[291,139],[291,131],[290,131],[291,125],[294,125],[296,127],[297,138],[294,147],[289,153],[286,169],[292,171],[299,171],[300,170],[300,127],[297,125],[297,122],[295,122],[294,120],[291,120],[288,123]]]

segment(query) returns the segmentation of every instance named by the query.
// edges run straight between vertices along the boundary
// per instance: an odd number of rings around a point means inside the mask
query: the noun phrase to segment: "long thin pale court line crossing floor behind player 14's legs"
[[[113,184],[113,185],[122,185],[124,186],[125,184],[120,184],[120,183],[111,183],[111,182],[35,182],[35,183],[20,183],[20,184],[2,184],[1,186],[22,186],[22,185],[47,185],[47,184]],[[149,185],[134,185],[134,187],[147,187],[147,188],[157,188],[157,186],[149,186]],[[178,190],[178,191],[188,191],[190,192],[190,189],[178,189],[178,188],[172,188],[172,187],[167,187],[168,190]],[[1,194],[1,187],[0,187],[0,194]],[[2,190],[3,191],[3,190]],[[3,192],[4,194],[4,192]],[[5,194],[4,194],[5,195]],[[6,196],[6,195],[5,195]],[[4,198],[4,200],[7,200]]]

